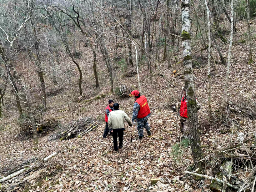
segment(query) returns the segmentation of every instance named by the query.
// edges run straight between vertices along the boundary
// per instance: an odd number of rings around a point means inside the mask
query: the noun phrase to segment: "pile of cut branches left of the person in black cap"
[[[83,117],[73,122],[71,124],[71,128],[68,128],[62,132],[55,132],[49,136],[48,141],[58,139],[62,141],[65,139],[82,137],[84,134],[92,131],[96,127],[98,127],[98,124],[92,117]]]

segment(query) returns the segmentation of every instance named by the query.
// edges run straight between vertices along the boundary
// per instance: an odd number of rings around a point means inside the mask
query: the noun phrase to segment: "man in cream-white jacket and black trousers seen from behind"
[[[127,123],[132,126],[132,122],[128,115],[122,111],[119,110],[119,104],[114,104],[114,111],[111,111],[108,115],[108,128],[110,132],[113,132],[113,143],[114,143],[114,149],[115,151],[118,150],[118,148],[123,147],[123,137],[124,137],[124,119],[127,121]],[[117,135],[119,140],[119,146],[117,147]]]

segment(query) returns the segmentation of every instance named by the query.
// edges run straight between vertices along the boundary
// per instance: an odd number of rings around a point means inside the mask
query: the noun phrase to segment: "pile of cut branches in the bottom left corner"
[[[59,152],[44,158],[37,157],[15,162],[0,170],[0,191],[14,191],[26,184],[36,186],[36,182],[47,175],[48,160]],[[2,177],[3,176],[3,177]]]

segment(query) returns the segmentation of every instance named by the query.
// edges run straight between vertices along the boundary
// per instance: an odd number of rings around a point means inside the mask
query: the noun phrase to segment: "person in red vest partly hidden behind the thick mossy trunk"
[[[197,110],[200,109],[200,104],[196,99],[196,107]],[[187,98],[186,98],[186,89],[182,90],[182,99],[180,102],[180,130],[183,132],[183,138],[187,138],[189,135],[189,127],[188,127],[188,108],[187,108]]]

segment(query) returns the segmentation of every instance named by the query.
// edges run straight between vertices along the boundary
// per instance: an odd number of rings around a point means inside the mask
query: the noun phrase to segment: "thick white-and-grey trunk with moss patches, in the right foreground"
[[[188,105],[188,125],[190,147],[194,161],[197,161],[202,155],[201,141],[198,132],[196,95],[194,79],[192,74],[191,46],[190,46],[190,20],[189,20],[190,0],[184,0],[181,4],[182,14],[182,38],[183,38],[183,64],[184,64],[184,81],[186,87],[187,105]]]

